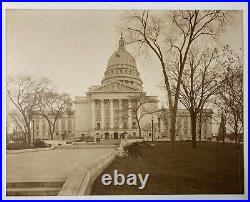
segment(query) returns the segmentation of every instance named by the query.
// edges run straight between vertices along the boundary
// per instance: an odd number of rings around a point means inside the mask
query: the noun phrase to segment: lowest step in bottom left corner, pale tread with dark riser
[[[7,188],[7,196],[57,196],[61,187],[17,187]]]

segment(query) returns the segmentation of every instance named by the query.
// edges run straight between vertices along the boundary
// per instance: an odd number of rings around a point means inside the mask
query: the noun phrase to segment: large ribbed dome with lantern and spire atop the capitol
[[[118,50],[108,60],[102,84],[114,81],[142,90],[142,80],[137,71],[135,58],[126,50],[122,36]]]

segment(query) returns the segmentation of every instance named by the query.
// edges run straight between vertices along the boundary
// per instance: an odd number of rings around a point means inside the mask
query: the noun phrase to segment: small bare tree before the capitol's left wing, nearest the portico
[[[72,101],[68,94],[58,94],[47,88],[39,94],[37,109],[38,113],[45,118],[49,126],[51,140],[55,133],[56,122],[64,114],[71,112]]]

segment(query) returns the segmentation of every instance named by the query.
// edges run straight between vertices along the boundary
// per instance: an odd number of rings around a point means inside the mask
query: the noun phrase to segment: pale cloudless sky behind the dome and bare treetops
[[[6,73],[47,77],[59,92],[83,96],[99,85],[108,58],[118,48],[122,10],[7,10]],[[242,15],[238,13],[220,38],[242,48]],[[127,50],[136,55],[132,47]],[[138,56],[138,55],[137,55]],[[136,57],[148,95],[160,103],[161,69],[154,55]],[[152,71],[153,69],[153,71]]]

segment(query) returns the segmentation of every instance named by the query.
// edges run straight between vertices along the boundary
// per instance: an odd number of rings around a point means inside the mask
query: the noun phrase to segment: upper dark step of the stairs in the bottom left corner
[[[7,182],[6,187],[18,188],[18,187],[62,187],[64,181],[11,181]]]

